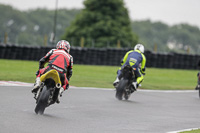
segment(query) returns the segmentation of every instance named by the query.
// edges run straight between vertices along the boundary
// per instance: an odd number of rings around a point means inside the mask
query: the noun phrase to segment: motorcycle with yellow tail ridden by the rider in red
[[[46,107],[58,102],[61,81],[59,73],[52,69],[40,77],[41,85],[35,95],[36,114],[43,114]]]

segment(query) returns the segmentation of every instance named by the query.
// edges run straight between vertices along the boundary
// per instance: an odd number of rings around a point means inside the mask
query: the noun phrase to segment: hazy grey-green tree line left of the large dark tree
[[[0,42],[16,45],[52,45],[55,10],[35,9],[20,11],[0,4]],[[66,27],[80,10],[59,9],[57,15],[56,40],[64,34]],[[5,37],[7,36],[7,40]]]

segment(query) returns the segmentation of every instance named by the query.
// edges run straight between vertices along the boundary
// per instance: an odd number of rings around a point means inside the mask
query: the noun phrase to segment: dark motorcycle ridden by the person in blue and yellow
[[[136,82],[135,73],[130,65],[125,66],[121,70],[121,75],[119,76],[119,84],[116,86],[116,98],[118,100],[128,100],[130,95],[136,91],[132,82]]]

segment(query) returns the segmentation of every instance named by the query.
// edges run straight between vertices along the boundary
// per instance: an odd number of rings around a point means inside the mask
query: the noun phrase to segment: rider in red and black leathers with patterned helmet
[[[56,49],[51,49],[44,57],[39,61],[39,70],[36,72],[36,81],[32,89],[32,93],[36,94],[41,85],[40,76],[48,72],[51,69],[55,69],[60,76],[62,87],[60,88],[59,95],[62,96],[64,90],[69,87],[69,80],[72,76],[73,57],[69,54],[70,44],[66,40],[60,40]],[[44,65],[48,62],[48,65],[44,68]],[[59,97],[57,99],[59,103]]]

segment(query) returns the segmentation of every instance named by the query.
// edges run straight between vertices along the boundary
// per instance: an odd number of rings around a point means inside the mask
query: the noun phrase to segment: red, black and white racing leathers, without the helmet
[[[44,65],[49,64],[44,68]],[[69,80],[72,76],[73,57],[64,49],[51,49],[39,61],[39,71],[36,73],[37,77],[46,73],[51,69],[55,69],[60,76],[62,87],[64,90],[69,87]]]

